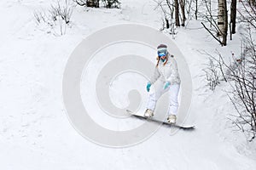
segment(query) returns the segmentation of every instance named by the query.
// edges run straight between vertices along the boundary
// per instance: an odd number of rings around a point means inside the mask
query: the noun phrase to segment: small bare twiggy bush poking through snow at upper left
[[[73,14],[74,6],[68,3],[67,0],[64,2],[58,2],[51,4],[49,9],[40,10],[34,12],[34,17],[39,26],[44,25],[55,35],[64,35],[67,31],[67,26],[69,26],[71,17]],[[46,29],[46,28],[43,29]]]

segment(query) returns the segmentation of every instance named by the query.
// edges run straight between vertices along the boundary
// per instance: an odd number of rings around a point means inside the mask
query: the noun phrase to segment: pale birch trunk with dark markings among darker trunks
[[[218,0],[218,36],[223,38],[222,44],[227,45],[228,35],[228,10],[227,1]]]

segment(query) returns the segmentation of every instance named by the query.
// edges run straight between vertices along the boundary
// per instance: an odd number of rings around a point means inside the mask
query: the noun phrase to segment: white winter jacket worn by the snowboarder
[[[155,67],[154,74],[150,78],[150,83],[153,84],[157,80],[161,82],[171,82],[173,84],[180,84],[180,77],[177,71],[177,62],[173,55],[167,55],[168,61],[166,65],[160,60],[159,65]]]

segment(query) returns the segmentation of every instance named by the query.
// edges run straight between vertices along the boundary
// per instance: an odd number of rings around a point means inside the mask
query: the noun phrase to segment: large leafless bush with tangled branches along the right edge
[[[252,35],[248,35],[246,43],[246,58],[238,71],[231,71],[230,78],[234,84],[230,99],[236,108],[238,116],[234,120],[236,127],[247,133],[252,140],[256,135],[256,44]],[[231,83],[230,83],[231,84]]]

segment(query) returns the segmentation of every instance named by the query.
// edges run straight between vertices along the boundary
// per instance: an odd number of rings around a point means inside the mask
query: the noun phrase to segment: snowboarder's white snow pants
[[[168,109],[168,115],[176,115],[177,116],[177,95],[179,92],[180,84],[173,84],[169,86],[169,88],[164,89],[166,82],[160,82],[156,86],[154,86],[154,93],[151,92],[149,94],[149,99],[148,99],[148,105],[147,109],[150,109],[154,111],[155,105],[158,99],[160,99],[160,96],[162,94],[165,94],[168,92],[169,94],[169,109]]]

